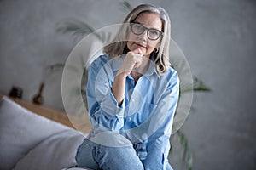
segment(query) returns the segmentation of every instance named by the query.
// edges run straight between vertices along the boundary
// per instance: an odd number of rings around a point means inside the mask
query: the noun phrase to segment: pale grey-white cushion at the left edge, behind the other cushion
[[[9,170],[42,140],[71,129],[38,116],[8,97],[0,101],[0,169]]]

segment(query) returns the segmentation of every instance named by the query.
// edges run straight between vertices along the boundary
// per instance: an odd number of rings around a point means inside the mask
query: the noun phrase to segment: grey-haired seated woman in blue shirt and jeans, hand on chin
[[[170,34],[163,8],[139,5],[90,65],[93,130],[77,151],[79,167],[172,169],[167,156],[179,80],[168,57]],[[102,132],[109,133],[102,137]]]

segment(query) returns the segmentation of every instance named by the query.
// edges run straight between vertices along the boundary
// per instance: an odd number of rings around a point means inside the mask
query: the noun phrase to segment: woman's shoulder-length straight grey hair
[[[123,21],[124,25],[120,27],[119,32],[113,38],[113,41],[103,48],[103,52],[109,54],[110,58],[121,54],[126,54],[128,52],[128,48],[126,46],[126,37],[129,28],[125,24],[131,23],[132,21],[136,20],[137,16],[142,13],[159,14],[160,19],[162,20],[163,36],[160,41],[160,48],[158,51],[154,51],[152,53],[154,53],[155,57],[154,61],[156,65],[156,70],[159,75],[163,75],[164,73],[166,73],[166,71],[168,71],[170,66],[169,46],[171,41],[171,21],[164,8],[157,7],[151,4],[141,4],[131,10],[130,14],[128,14]]]

